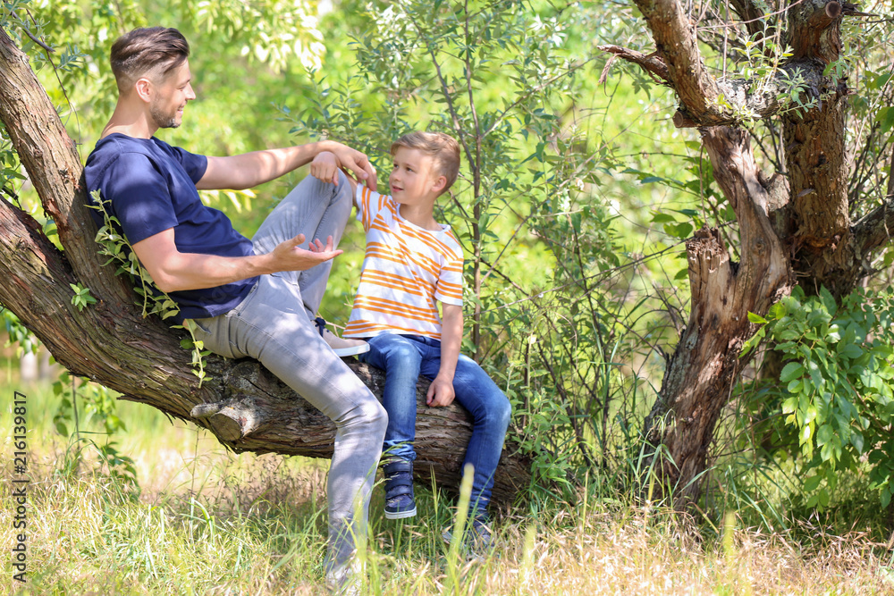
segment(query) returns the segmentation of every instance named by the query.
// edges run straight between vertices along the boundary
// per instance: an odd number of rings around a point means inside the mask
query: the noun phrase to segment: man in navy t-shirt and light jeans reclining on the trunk
[[[206,348],[257,358],[335,423],[325,569],[327,580],[342,583],[355,539],[366,533],[387,424],[383,407],[333,351],[350,355],[368,346],[317,328],[314,319],[332,259],[342,253],[335,247],[350,214],[350,184],[344,174],[338,184],[308,176],[251,240],[204,206],[197,189],[250,188],[322,151],[374,187],[375,170],[366,155],[331,141],[205,157],[155,139],[158,129],[180,126],[196,97],[189,55],[176,29],[134,29],[115,41],[119,97],[87,160],[88,190],[109,202],[139,262],[178,303],[179,319],[196,323]]]

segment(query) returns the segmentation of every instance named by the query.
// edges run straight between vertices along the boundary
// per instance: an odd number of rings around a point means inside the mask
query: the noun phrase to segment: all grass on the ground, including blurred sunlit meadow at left
[[[14,379],[0,384],[7,403]],[[138,404],[120,404],[139,491],[109,474],[84,434],[68,441],[50,424],[45,388],[29,399],[28,583],[21,594],[319,594],[325,552],[326,462],[235,456],[187,424]],[[0,473],[13,474],[10,407]],[[78,453],[80,450],[80,458]],[[76,462],[78,465],[73,466]],[[69,470],[65,472],[65,470]],[[411,523],[371,509],[367,550],[374,594],[889,594],[885,545],[863,533],[834,535],[801,525],[790,533],[740,527],[735,512],[719,533],[662,508],[581,491],[574,503],[504,512],[484,562],[453,557],[440,534],[451,501],[417,490]],[[611,497],[611,498],[601,498]],[[15,543],[15,503],[0,502],[0,545]],[[807,536],[807,538],[805,538]]]

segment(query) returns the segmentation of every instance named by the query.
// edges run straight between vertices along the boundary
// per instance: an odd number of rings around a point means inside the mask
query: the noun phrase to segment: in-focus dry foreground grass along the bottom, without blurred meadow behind
[[[245,463],[252,459],[265,460]],[[308,486],[321,491],[324,476],[266,461],[206,471],[216,491],[204,496],[181,489],[128,499],[100,476],[34,478],[22,593],[321,593],[323,495],[308,499]],[[451,566],[437,538],[449,509],[426,499],[415,525],[374,514],[370,593],[894,593],[884,545],[861,534],[797,541],[735,529],[711,540],[670,512],[617,505],[506,516],[490,558]],[[4,545],[13,543],[12,516],[4,499]],[[13,573],[8,562],[4,571]]]

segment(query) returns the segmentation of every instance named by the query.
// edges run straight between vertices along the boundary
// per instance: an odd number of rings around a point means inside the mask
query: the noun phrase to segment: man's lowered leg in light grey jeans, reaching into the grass
[[[335,423],[329,469],[327,572],[346,565],[367,533],[369,496],[387,414],[308,320],[298,286],[262,275],[226,315],[195,320],[197,339],[225,357],[254,357]],[[297,424],[297,423],[296,423]]]

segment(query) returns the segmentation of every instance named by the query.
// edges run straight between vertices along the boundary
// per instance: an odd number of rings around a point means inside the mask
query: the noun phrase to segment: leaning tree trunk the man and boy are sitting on
[[[72,374],[87,377],[170,416],[203,426],[234,451],[330,457],[334,425],[256,361],[207,358],[199,388],[190,354],[156,317],[143,319],[136,294],[103,268],[94,242],[82,166],[72,139],[34,77],[28,56],[0,29],[0,120],[13,139],[46,214],[59,231],[60,252],[29,214],[0,198],[0,303],[37,335]],[[69,284],[88,287],[97,304],[79,311]],[[380,371],[351,368],[381,397]],[[459,486],[471,424],[460,406],[426,407],[417,389],[416,476]],[[527,457],[504,449],[493,499],[509,501],[530,480]]]

